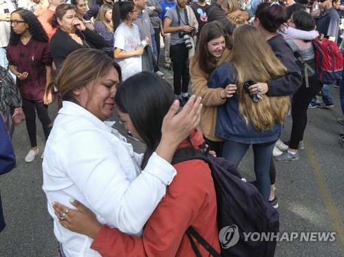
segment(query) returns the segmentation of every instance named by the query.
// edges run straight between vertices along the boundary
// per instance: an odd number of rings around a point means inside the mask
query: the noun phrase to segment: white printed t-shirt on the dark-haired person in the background
[[[122,49],[122,52],[133,52],[140,47],[141,39],[138,26],[133,24],[131,29],[125,23],[120,23],[114,36],[114,47]],[[115,59],[122,69],[122,80],[142,71],[142,59],[140,55],[125,59]]]

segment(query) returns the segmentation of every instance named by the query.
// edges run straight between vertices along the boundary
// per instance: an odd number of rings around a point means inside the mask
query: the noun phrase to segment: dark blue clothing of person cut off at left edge
[[[16,165],[16,157],[14,155],[13,146],[10,136],[7,133],[5,122],[0,115],[0,175],[9,172]],[[1,195],[0,195],[0,232],[6,227],[3,218]]]

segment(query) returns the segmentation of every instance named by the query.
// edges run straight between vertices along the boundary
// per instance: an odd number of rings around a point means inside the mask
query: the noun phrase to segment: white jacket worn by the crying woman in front
[[[99,254],[89,249],[90,238],[58,223],[52,209],[54,201],[73,208],[69,199],[77,199],[100,223],[140,234],[176,175],[173,166],[156,153],[141,172],[142,155],[134,153],[131,144],[122,139],[107,122],[78,104],[63,102],[58,111],[44,151],[43,190],[54,218],[55,236],[67,256]]]

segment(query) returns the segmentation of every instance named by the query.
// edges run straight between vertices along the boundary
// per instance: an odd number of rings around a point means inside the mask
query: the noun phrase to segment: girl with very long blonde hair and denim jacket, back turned
[[[218,107],[215,136],[224,139],[223,157],[235,166],[252,144],[257,188],[268,201],[272,150],[288,113],[289,97],[267,96],[261,91],[251,93],[247,88],[254,81],[268,82],[286,76],[287,69],[259,30],[251,25],[235,30],[233,49],[230,62],[217,67],[208,79],[211,88],[237,85],[234,96]]]

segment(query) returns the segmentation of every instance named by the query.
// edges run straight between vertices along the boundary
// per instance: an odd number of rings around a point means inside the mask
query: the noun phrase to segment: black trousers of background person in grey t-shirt
[[[188,93],[189,74],[189,50],[185,43],[171,45],[171,59],[173,62],[173,88],[174,93],[179,96]]]

